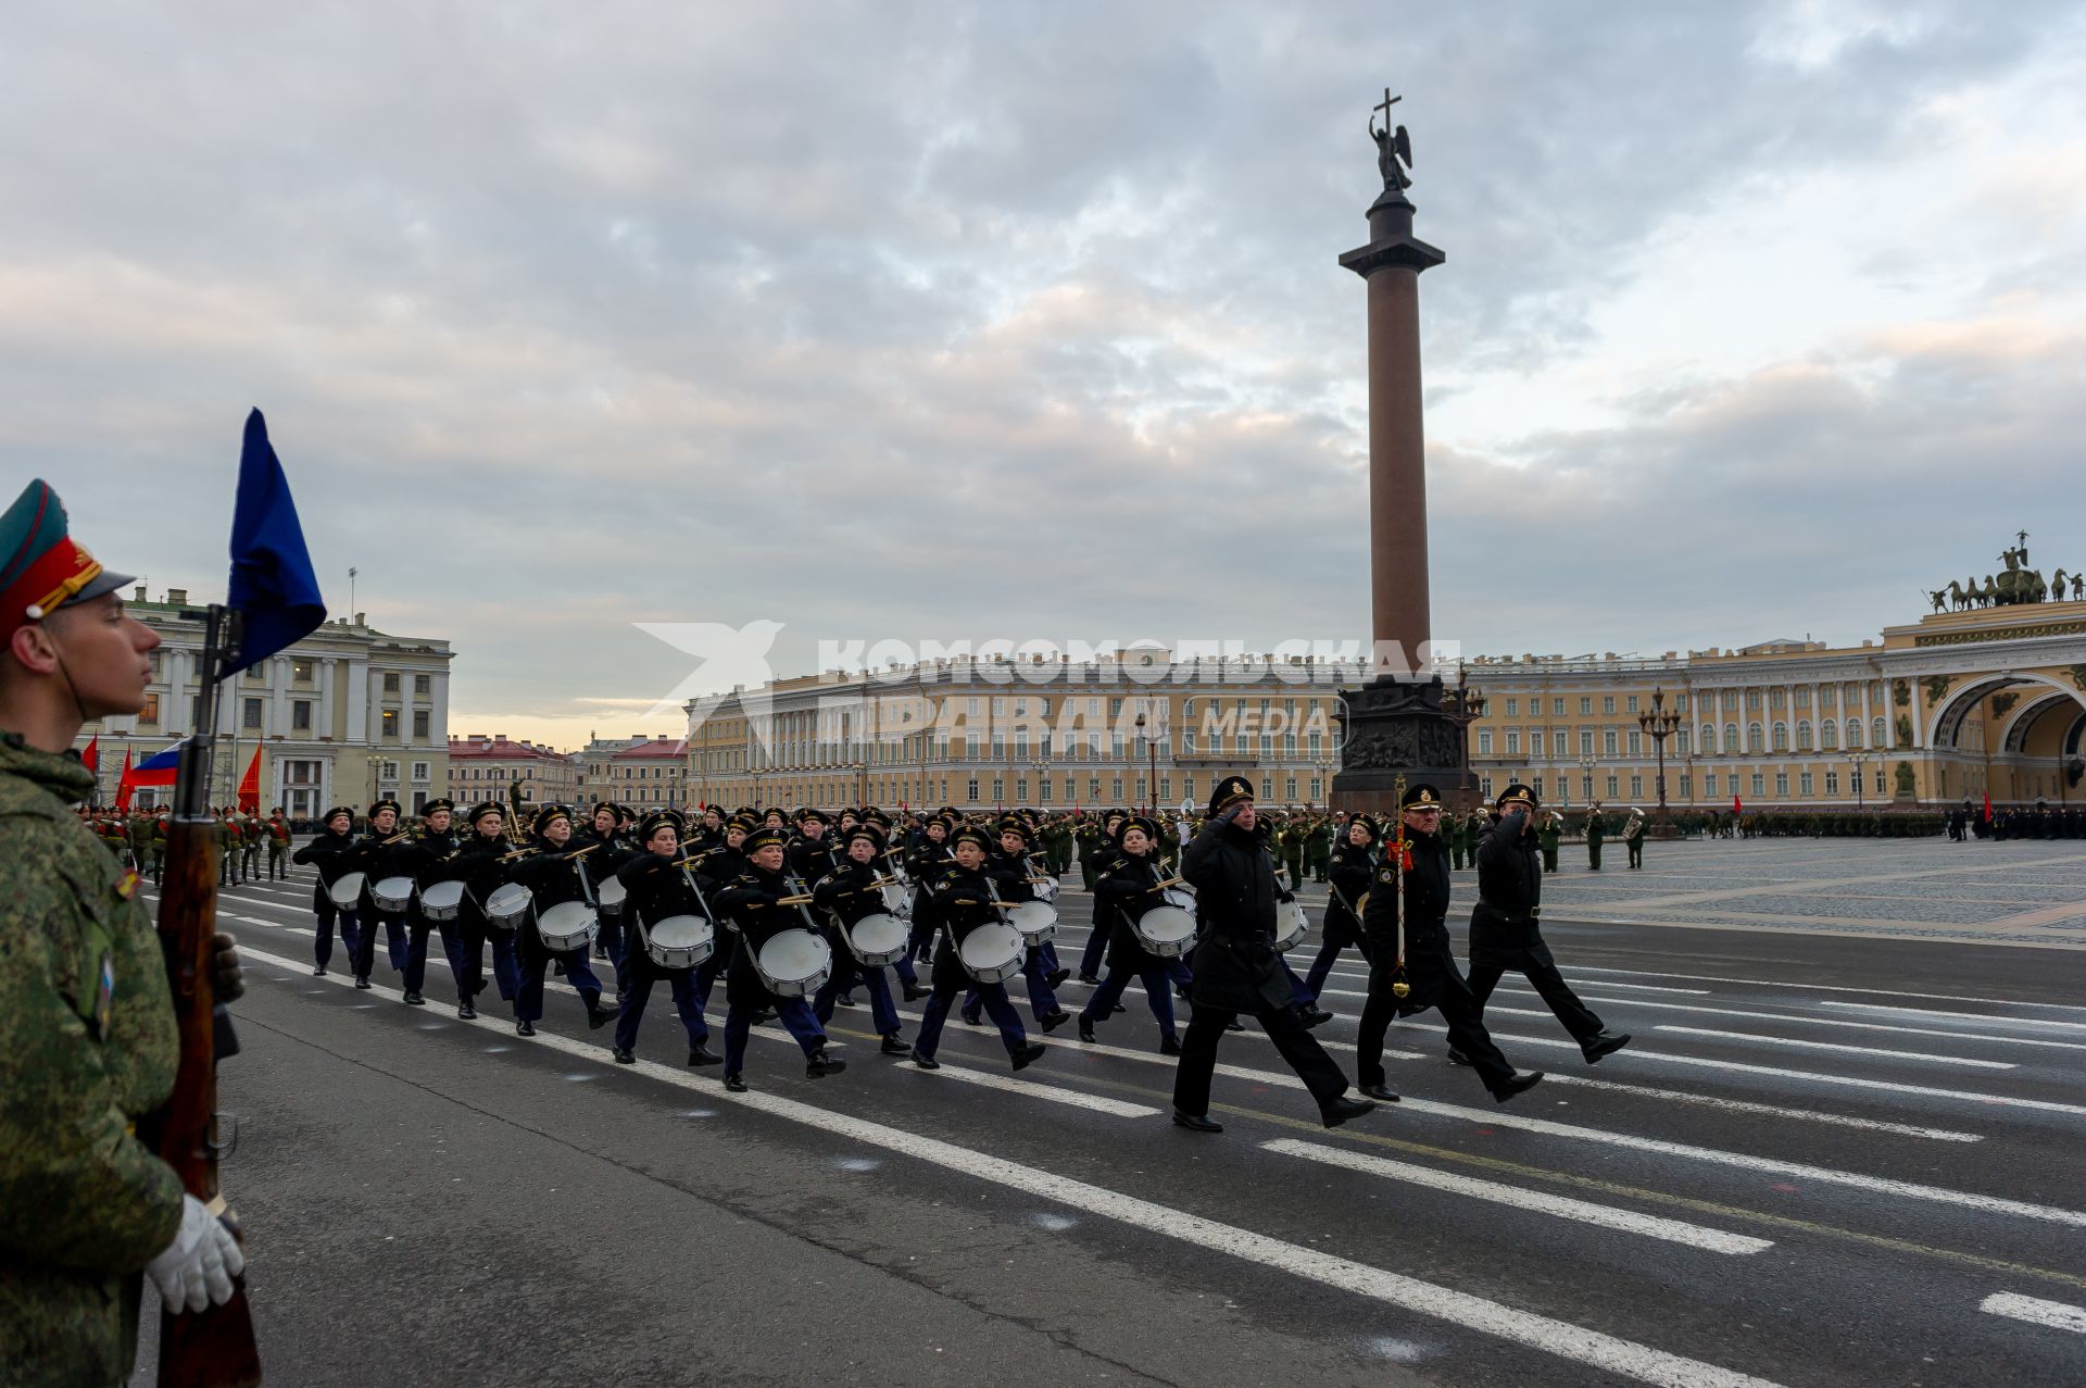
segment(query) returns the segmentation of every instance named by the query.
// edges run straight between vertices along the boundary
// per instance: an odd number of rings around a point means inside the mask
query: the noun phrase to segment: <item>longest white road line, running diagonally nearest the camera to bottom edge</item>
[[[257,962],[280,968],[294,971],[298,966],[294,960],[259,952],[254,958]],[[353,987],[346,979],[340,979],[338,985]],[[382,991],[392,998],[398,996],[396,989],[388,987],[373,991]],[[459,1025],[476,1025],[505,1035],[505,1029],[499,1023],[486,1023],[484,1019]],[[513,1037],[513,1042],[542,1046],[595,1064],[613,1067],[613,1060],[609,1060],[599,1046],[576,1042],[553,1031],[538,1031],[532,1037]],[[722,1085],[722,1081],[688,1075],[653,1060],[638,1060],[636,1064],[613,1069],[634,1071],[657,1083],[703,1094],[705,1102],[736,1104],[741,1108],[799,1123],[820,1133],[853,1138],[866,1146],[912,1156],[960,1175],[1018,1190],[1074,1211],[1085,1211],[1087,1215],[1112,1219],[1181,1244],[1222,1252],[1272,1271],[1316,1282],[1337,1292],[1414,1311],[1462,1330],[1489,1334],[1494,1338],[1544,1350],[1619,1378],[1629,1378],[1633,1382],[1658,1384],[1663,1388],[1777,1388],[1771,1380],[1754,1378],[1698,1359],[1685,1359],[1681,1355],[1669,1355],[1648,1344],[1608,1336],[1585,1325],[1573,1325],[1569,1321],[1556,1321],[1529,1311],[1504,1307],[1469,1292],[1456,1292],[1433,1282],[1421,1282],[1418,1277],[1391,1273],[1381,1267],[1289,1244],[1264,1234],[1254,1234],[1252,1229],[1189,1215],[1139,1196],[1126,1196],[1101,1186],[1062,1177],[1051,1171],[993,1156],[976,1148],[964,1148],[939,1138],[907,1133],[882,1123],[870,1123],[866,1119],[816,1108],[811,1104],[774,1094],[732,1094]]]

